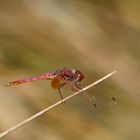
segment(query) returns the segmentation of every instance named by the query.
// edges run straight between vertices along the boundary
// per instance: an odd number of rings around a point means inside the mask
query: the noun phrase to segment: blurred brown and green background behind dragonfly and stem
[[[85,74],[97,109],[75,97],[4,140],[140,139],[138,0],[0,1],[0,132],[60,99],[50,81],[5,84],[69,66]],[[72,93],[62,89],[63,96]],[[117,104],[112,103],[115,97]]]

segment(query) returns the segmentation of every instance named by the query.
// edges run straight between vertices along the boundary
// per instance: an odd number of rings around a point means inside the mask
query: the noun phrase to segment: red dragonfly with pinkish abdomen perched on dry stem
[[[12,81],[6,84],[6,86],[10,87],[13,85],[19,85],[19,84],[37,81],[37,80],[51,80],[52,88],[57,89],[60,94],[61,99],[63,99],[60,89],[64,85],[70,83],[72,85],[73,91],[80,90],[82,89],[80,81],[82,81],[83,79],[84,79],[84,74],[80,72],[79,70],[74,70],[69,67],[64,67],[64,68],[56,70],[55,72],[49,72],[47,74],[42,74],[42,75],[31,77],[31,78]],[[91,98],[87,94],[82,92],[81,95],[84,96],[94,107],[96,107],[96,104],[91,100]]]

